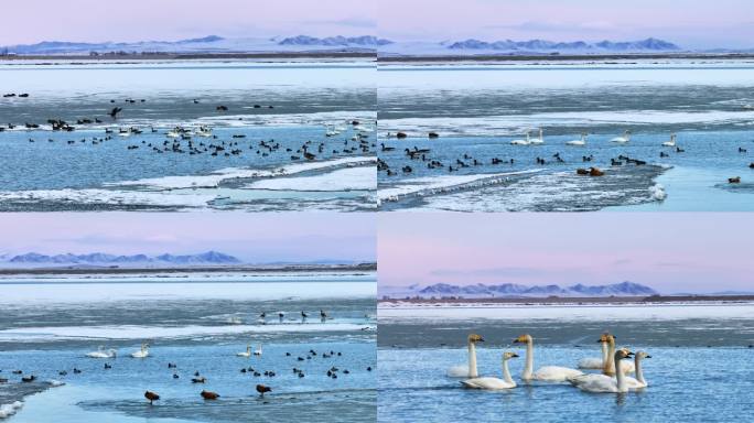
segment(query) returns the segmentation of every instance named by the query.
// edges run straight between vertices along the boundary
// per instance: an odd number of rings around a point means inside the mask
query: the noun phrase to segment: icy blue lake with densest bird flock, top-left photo
[[[374,74],[368,63],[0,65],[0,90],[30,95],[0,104],[0,209],[374,209]],[[174,127],[187,137],[169,138]],[[119,134],[130,128],[141,133]],[[155,178],[166,180],[134,184]]]

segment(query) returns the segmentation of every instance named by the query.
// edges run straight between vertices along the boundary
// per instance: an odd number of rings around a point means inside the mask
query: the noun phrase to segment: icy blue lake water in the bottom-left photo
[[[374,278],[29,282],[0,285],[0,292],[12,291],[0,300],[0,377],[9,379],[0,384],[0,406],[21,401],[13,422],[284,422],[302,413],[343,422],[376,419]],[[54,293],[34,294],[40,291]],[[302,319],[302,311],[310,317]],[[130,357],[141,343],[150,344],[149,357]],[[252,350],[261,345],[262,355],[237,357],[249,344]],[[86,357],[100,345],[117,349],[117,357]],[[337,378],[327,376],[333,367]],[[11,372],[17,369],[23,375]],[[205,383],[191,382],[196,371]],[[22,383],[26,375],[39,379]],[[258,383],[272,393],[260,399]],[[203,389],[222,397],[207,402]],[[146,390],[161,400],[150,405]]]

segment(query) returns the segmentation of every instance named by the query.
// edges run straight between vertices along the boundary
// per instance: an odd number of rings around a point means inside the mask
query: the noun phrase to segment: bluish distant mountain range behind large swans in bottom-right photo
[[[381,295],[389,297],[420,296],[420,297],[448,297],[456,296],[464,299],[489,299],[489,297],[543,297],[557,296],[648,296],[658,294],[649,286],[635,282],[621,282],[608,285],[584,285],[575,284],[571,286],[560,285],[519,285],[515,283],[502,283],[498,285],[487,285],[477,283],[474,285],[453,285],[448,283],[435,283],[429,286],[411,285],[403,290],[384,290]]]

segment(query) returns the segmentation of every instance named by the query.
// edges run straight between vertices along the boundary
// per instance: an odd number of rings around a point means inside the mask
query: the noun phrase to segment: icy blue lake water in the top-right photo
[[[380,208],[752,210],[751,70],[746,63],[380,66]],[[510,144],[527,131],[538,138],[540,128],[543,144]],[[611,142],[625,130],[629,142]],[[408,137],[395,138],[399,131]],[[440,137],[428,139],[430,131]],[[584,147],[566,144],[582,132]],[[682,152],[661,145],[671,133]],[[412,159],[406,149],[430,151]],[[649,166],[613,165],[620,155]],[[605,176],[575,175],[590,166]],[[729,184],[735,176],[741,183]]]

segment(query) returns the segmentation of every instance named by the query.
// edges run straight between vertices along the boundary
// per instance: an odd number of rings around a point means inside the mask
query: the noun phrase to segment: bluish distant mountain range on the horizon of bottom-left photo
[[[237,258],[217,251],[181,256],[168,253],[160,256],[116,256],[103,252],[47,256],[28,252],[20,256],[6,256],[2,261],[14,265],[206,265],[241,263]]]

